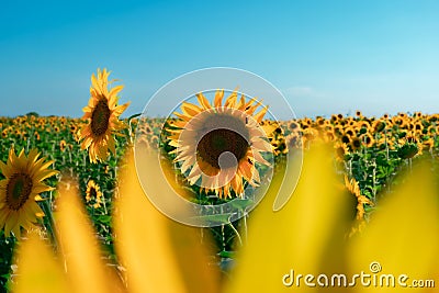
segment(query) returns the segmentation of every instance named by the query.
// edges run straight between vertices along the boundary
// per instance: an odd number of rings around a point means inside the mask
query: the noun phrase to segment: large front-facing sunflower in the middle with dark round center
[[[238,101],[234,91],[224,102],[224,91],[215,93],[213,105],[202,94],[196,94],[199,105],[184,102],[179,120],[168,128],[169,145],[176,147],[175,162],[180,164],[182,173],[191,185],[201,180],[201,191],[213,191],[219,198],[244,193],[244,180],[257,187],[260,179],[256,164],[270,166],[262,156],[272,151],[266,140],[270,131],[261,126],[267,108],[256,99]]]

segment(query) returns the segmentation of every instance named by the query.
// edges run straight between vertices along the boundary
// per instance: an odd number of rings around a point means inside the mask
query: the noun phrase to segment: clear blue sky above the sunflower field
[[[439,112],[439,1],[0,1],[0,116],[82,115],[98,67],[130,115],[212,66],[268,79],[299,116]]]

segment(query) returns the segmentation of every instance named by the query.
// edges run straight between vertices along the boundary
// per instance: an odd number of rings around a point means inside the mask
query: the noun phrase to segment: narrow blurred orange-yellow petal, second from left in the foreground
[[[121,292],[115,272],[102,261],[98,239],[80,202],[77,182],[59,183],[55,214],[61,259],[72,292]]]

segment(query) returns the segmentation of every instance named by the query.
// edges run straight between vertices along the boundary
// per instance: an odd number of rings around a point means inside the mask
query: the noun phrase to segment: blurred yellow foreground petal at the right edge
[[[430,167],[421,164],[406,173],[406,182],[394,193],[385,194],[363,234],[353,238],[349,246],[350,271],[376,274],[376,291],[395,290],[379,288],[383,274],[393,274],[395,280],[392,282],[396,288],[397,279],[406,274],[407,280],[402,277],[403,283],[407,284],[404,292],[415,279],[426,281],[436,278],[436,285],[439,285],[439,198]],[[369,268],[372,262],[375,262],[373,270],[378,270],[376,273]],[[387,281],[383,279],[383,282],[386,284]],[[373,283],[371,286],[374,286]],[[359,288],[358,292],[368,290]],[[432,292],[421,290],[412,288],[415,292]]]

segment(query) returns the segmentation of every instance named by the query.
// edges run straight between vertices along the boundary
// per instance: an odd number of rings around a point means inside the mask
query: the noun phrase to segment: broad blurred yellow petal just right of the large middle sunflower
[[[297,188],[278,212],[272,203],[282,178],[274,177],[262,203],[250,214],[248,245],[239,252],[227,293],[306,291],[309,288],[296,284],[294,277],[284,280],[294,281],[294,288],[285,286],[283,277],[291,270],[295,274],[344,270],[344,235],[354,205],[337,188],[331,162],[331,154],[323,146],[307,153]]]

